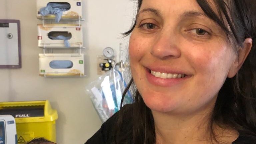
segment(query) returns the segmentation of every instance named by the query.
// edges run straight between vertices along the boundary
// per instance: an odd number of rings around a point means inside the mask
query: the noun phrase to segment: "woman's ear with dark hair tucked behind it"
[[[243,47],[239,48],[239,50],[238,50],[238,57],[236,58],[236,60],[232,64],[232,66],[231,66],[231,68],[230,68],[230,70],[228,72],[227,77],[231,78],[231,77],[234,77],[236,75],[236,73],[242,67],[245,59],[248,56],[248,54],[250,53],[251,48],[252,48],[252,38],[245,39]]]

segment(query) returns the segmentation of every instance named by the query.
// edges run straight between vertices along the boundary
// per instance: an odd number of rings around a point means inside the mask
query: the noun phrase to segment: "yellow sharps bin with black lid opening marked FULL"
[[[56,142],[58,113],[48,100],[0,102],[0,114],[15,117],[18,144],[26,144],[39,137]]]

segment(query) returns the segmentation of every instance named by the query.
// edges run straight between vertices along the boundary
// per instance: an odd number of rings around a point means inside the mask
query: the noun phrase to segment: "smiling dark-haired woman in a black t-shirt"
[[[86,144],[255,144],[255,5],[139,0],[125,33],[134,103]]]

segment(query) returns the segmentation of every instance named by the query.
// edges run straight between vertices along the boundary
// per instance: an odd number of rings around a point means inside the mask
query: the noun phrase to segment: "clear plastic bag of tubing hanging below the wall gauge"
[[[122,93],[126,87],[122,73],[110,70],[85,87],[102,122],[120,110]],[[128,91],[124,104],[132,103],[133,98]]]

